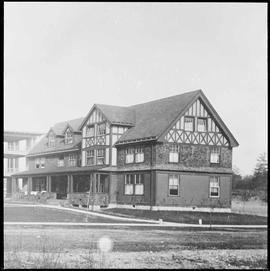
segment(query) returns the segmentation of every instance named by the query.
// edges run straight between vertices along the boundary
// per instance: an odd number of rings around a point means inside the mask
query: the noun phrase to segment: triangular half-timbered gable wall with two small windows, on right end
[[[217,123],[208,113],[200,99],[197,99],[165,135],[170,143],[190,143],[229,146],[229,142]]]

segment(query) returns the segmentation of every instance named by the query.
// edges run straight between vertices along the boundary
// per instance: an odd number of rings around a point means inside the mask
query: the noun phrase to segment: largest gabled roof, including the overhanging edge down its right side
[[[134,142],[138,139],[159,140],[168,128],[171,127],[198,98],[201,98],[205,102],[213,118],[216,119],[220,128],[230,140],[230,145],[232,147],[238,146],[238,142],[210,104],[202,90],[186,92],[180,95],[131,106],[130,109],[135,111],[136,125],[123,134],[115,145]]]

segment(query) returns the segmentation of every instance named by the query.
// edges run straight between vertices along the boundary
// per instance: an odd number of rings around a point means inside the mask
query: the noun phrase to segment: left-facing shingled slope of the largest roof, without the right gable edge
[[[143,138],[156,139],[199,92],[186,92],[131,106],[130,109],[135,112],[136,125],[123,134],[117,144]]]

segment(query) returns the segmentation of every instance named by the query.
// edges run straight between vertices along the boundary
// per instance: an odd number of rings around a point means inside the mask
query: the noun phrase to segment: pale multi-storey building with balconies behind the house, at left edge
[[[11,174],[27,170],[25,156],[40,137],[40,133],[4,131],[4,197],[12,194]],[[22,179],[17,180],[16,187],[23,190]]]

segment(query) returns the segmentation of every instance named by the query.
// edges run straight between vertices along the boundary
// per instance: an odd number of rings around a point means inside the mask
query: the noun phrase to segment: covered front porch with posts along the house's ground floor
[[[19,185],[22,182],[23,185]],[[109,204],[109,174],[74,173],[12,177],[14,199],[65,202],[73,206],[105,207]]]

